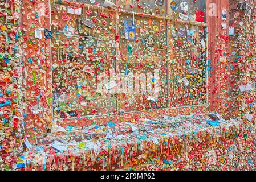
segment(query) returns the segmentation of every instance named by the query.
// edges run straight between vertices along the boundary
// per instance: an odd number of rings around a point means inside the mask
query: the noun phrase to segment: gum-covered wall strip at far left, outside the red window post
[[[0,168],[9,169],[23,150],[20,1],[0,3]]]

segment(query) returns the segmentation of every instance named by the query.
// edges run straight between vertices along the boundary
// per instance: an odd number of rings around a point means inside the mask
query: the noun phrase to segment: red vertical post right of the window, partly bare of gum
[[[229,105],[229,103],[226,104],[226,94],[223,92],[229,88],[226,72],[227,59],[220,61],[220,58],[227,57],[229,53],[227,47],[229,1],[207,1],[207,5],[210,110],[225,113]],[[226,12],[226,19],[222,18],[222,11]],[[225,24],[226,28],[222,28],[221,24]]]

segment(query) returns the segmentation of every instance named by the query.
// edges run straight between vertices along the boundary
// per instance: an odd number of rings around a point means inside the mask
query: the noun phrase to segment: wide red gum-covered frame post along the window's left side
[[[52,119],[49,1],[23,1],[21,21],[22,88],[26,137],[36,141]]]

